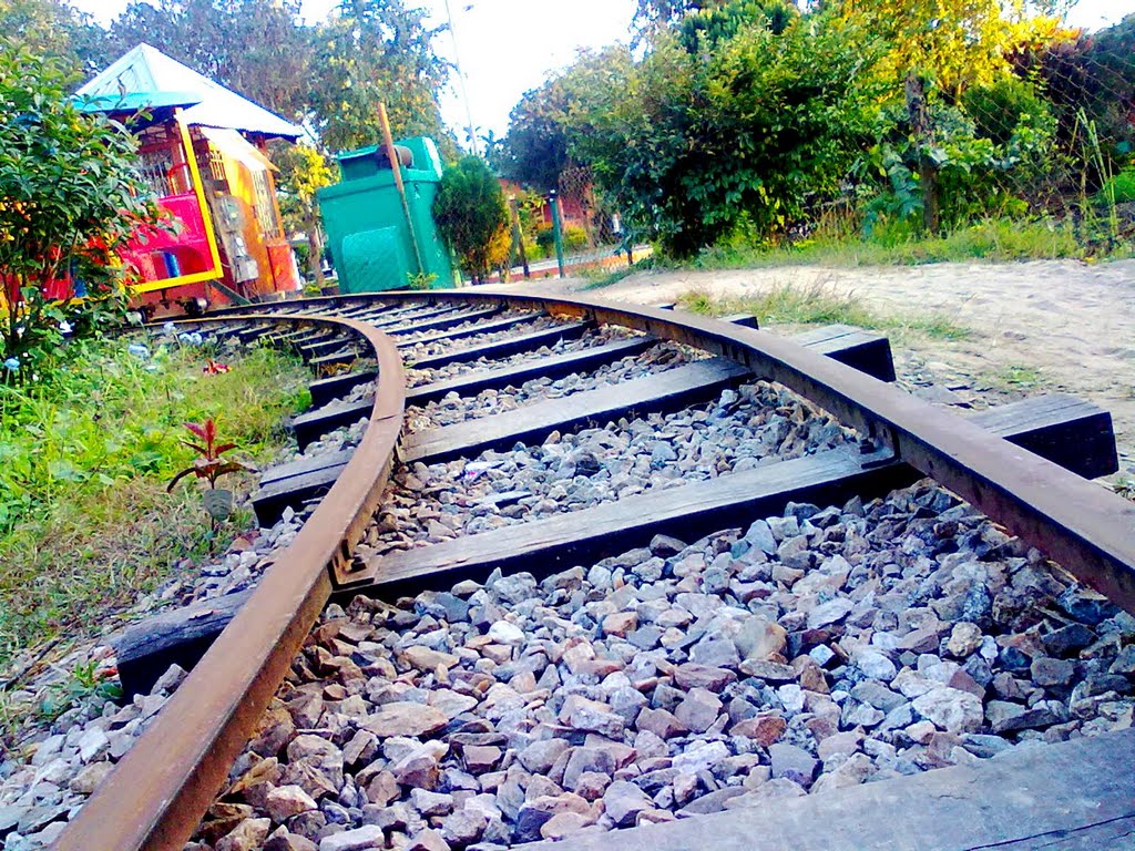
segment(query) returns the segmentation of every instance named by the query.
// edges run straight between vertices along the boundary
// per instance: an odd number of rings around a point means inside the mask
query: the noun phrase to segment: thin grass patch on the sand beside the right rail
[[[836,293],[822,284],[806,287],[785,284],[759,295],[738,298],[714,298],[703,290],[690,290],[679,296],[679,303],[688,311],[709,317],[751,313],[762,326],[852,325],[947,340],[969,339],[973,336],[970,329],[949,317],[876,313],[858,296]]]

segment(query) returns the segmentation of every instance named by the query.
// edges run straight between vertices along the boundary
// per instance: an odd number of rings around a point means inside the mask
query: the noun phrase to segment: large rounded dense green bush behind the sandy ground
[[[730,3],[729,14],[756,17],[704,56],[659,35],[577,120],[573,152],[674,256],[739,229],[785,230],[839,189],[872,126],[869,34],[823,15],[777,32],[753,6]]]

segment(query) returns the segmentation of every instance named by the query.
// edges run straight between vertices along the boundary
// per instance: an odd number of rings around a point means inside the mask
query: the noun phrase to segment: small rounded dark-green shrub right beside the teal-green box
[[[508,209],[501,183],[480,157],[463,157],[446,168],[434,220],[474,284],[507,259]]]

